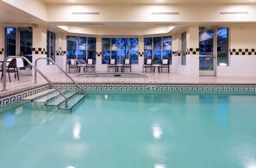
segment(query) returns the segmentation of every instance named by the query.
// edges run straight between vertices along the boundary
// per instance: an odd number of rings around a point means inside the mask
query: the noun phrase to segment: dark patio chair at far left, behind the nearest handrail
[[[1,65],[0,72],[2,72],[2,75],[1,75],[1,81],[2,81],[2,79],[3,79],[3,63]],[[7,60],[6,73],[8,73],[10,83],[11,83],[11,80],[10,80],[9,73],[14,73],[15,78],[18,78],[18,80],[20,80],[16,59],[8,59]]]

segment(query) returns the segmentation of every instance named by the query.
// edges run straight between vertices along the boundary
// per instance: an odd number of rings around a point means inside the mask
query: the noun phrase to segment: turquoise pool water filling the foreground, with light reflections
[[[256,96],[90,93],[0,113],[2,168],[254,168]]]

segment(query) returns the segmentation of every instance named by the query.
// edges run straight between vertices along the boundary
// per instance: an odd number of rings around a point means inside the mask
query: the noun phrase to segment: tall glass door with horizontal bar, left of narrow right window
[[[215,30],[200,29],[199,74],[215,75]]]

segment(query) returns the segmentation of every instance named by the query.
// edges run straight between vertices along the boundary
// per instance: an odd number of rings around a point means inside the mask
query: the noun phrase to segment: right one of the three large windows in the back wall
[[[153,64],[161,64],[162,59],[169,59],[172,64],[172,37],[144,38],[144,59],[153,59]]]

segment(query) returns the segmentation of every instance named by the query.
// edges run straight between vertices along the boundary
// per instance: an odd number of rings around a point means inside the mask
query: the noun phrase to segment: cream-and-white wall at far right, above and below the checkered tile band
[[[256,27],[231,26],[230,49],[256,49]],[[256,55],[229,55],[228,66],[217,66],[217,77],[256,77]]]

